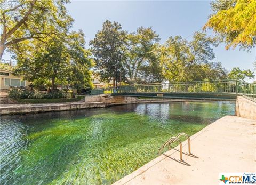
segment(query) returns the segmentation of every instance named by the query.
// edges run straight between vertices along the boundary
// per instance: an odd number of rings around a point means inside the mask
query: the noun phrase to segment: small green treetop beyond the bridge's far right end
[[[255,77],[254,73],[250,70],[241,70],[239,67],[231,69],[228,73],[229,79],[236,79],[238,81],[244,81],[245,78],[252,79]]]

